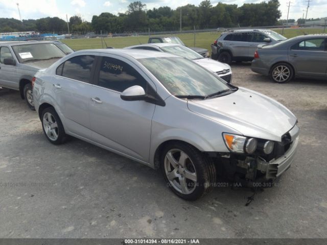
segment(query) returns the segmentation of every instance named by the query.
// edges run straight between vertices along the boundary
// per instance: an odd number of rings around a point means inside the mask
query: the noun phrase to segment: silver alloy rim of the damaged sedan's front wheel
[[[165,156],[165,172],[170,184],[182,194],[192,193],[197,186],[197,174],[190,157],[179,149]]]

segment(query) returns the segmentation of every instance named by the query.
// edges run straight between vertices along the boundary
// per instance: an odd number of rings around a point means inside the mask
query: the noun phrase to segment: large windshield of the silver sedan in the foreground
[[[184,58],[159,57],[139,59],[138,61],[175,96],[207,96],[230,89],[222,79]]]

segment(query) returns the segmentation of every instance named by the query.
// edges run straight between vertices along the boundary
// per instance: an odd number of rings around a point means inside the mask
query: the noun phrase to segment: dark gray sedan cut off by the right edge
[[[327,35],[302,35],[275,45],[259,46],[251,69],[286,83],[292,78],[327,79]]]

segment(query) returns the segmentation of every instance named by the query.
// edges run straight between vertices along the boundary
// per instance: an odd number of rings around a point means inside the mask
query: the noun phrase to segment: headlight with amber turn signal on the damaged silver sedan
[[[235,134],[223,134],[223,138],[228,149],[231,152],[235,153],[244,153],[252,154],[258,146],[258,141],[255,138],[247,138]]]

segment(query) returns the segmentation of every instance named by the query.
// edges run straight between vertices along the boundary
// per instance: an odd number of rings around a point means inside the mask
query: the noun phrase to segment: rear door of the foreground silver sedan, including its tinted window
[[[90,138],[89,92],[95,62],[92,55],[75,56],[58,66],[53,79],[53,91],[66,130],[87,139]]]

